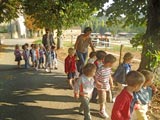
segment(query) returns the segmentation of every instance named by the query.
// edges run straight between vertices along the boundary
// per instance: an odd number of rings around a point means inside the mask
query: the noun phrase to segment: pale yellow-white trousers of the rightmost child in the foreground
[[[148,111],[148,105],[140,105],[139,110],[135,110],[137,120],[148,120],[147,113]]]

